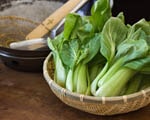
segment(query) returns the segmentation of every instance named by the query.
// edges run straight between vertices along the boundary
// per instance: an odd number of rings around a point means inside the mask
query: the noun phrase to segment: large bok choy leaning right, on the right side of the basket
[[[149,29],[145,20],[127,27],[119,18],[110,18],[106,22],[101,33],[100,52],[107,62],[91,85],[93,95],[119,95],[128,81],[150,63]]]

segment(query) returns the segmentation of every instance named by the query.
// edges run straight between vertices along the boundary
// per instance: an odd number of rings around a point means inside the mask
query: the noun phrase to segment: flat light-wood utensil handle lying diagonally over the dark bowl
[[[70,13],[77,5],[85,4],[88,0],[69,0],[47,19],[43,21],[38,27],[30,32],[26,39],[41,38],[46,35],[52,28],[54,28],[68,13]]]

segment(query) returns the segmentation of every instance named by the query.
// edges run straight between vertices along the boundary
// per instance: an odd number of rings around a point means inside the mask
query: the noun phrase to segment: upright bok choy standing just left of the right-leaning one
[[[71,20],[75,20],[76,25],[67,23]],[[66,18],[65,25],[70,27],[64,29],[65,37],[60,56],[68,70],[66,88],[77,93],[90,94],[87,63],[98,53],[101,36],[94,32],[92,24],[86,17],[70,14]],[[72,31],[72,34],[68,34],[68,31]]]

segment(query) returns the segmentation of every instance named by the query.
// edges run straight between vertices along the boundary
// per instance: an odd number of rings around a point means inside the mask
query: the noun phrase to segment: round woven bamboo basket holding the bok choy
[[[53,93],[65,104],[95,115],[116,115],[138,110],[150,103],[150,88],[117,97],[93,97],[72,93],[53,81],[54,66],[50,53],[44,61],[43,74]]]

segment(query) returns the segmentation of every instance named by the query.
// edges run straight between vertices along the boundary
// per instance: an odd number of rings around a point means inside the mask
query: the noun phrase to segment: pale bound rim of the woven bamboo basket
[[[54,80],[49,75],[49,73],[47,71],[47,63],[48,63],[49,59],[51,58],[51,56],[52,56],[52,52],[50,52],[49,55],[44,60],[43,75],[44,75],[44,78],[45,78],[46,82],[48,83],[49,87],[52,90],[57,91],[57,93],[60,93],[64,97],[69,97],[70,99],[81,101],[81,102],[84,101],[84,102],[88,102],[88,103],[92,102],[92,103],[106,104],[106,103],[127,103],[130,101],[134,101],[137,98],[147,99],[147,97],[150,96],[150,87],[147,89],[141,90],[139,92],[130,94],[130,95],[115,96],[115,97],[95,97],[95,96],[88,96],[88,95],[71,92],[71,91],[59,86],[56,82],[54,82]]]

